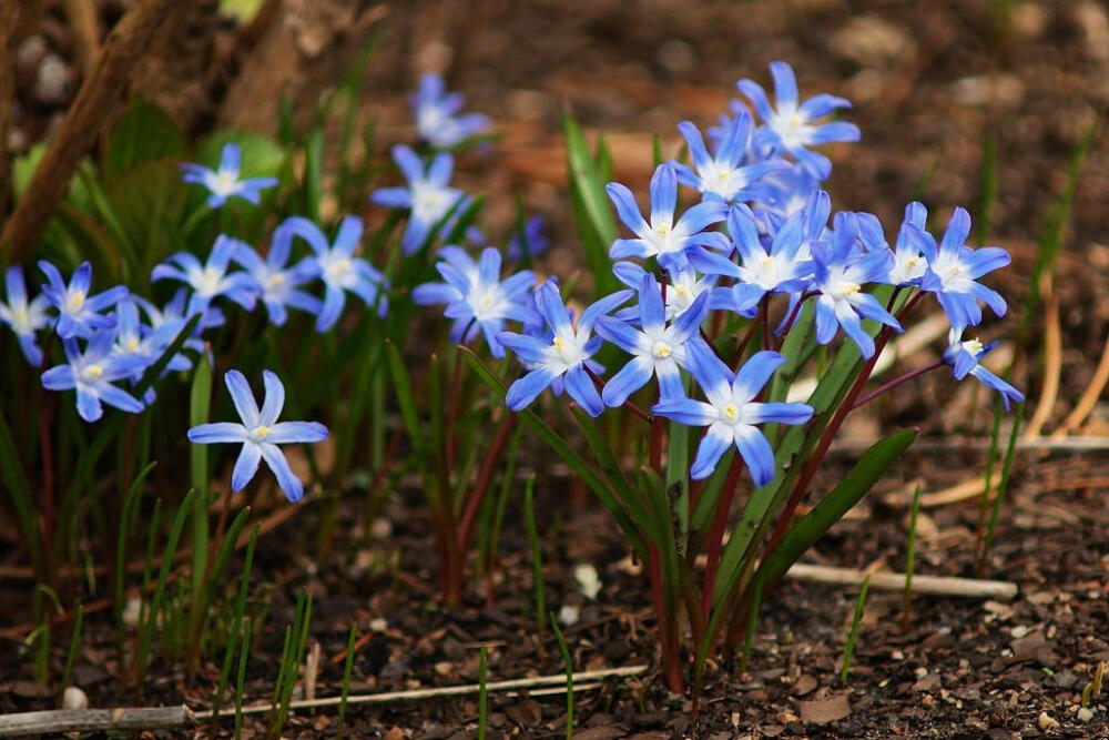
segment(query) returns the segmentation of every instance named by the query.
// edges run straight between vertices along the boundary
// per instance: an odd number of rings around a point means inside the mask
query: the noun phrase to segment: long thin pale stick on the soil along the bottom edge
[[[574,691],[579,689],[579,681],[581,682],[582,689],[594,688],[600,686],[598,682],[600,679],[606,678],[618,678],[623,676],[638,676],[647,671],[647,666],[627,666],[624,668],[602,668],[599,670],[584,670],[573,675],[573,688]],[[513,691],[519,689],[537,689],[537,691],[531,691],[531,693],[539,693],[540,691],[547,693],[558,693],[564,692],[566,687],[566,673],[559,673],[558,676],[537,676],[535,678],[516,678],[507,681],[489,681],[486,683],[486,691]],[[360,693],[347,697],[347,706],[350,704],[387,704],[396,701],[414,701],[418,699],[436,699],[439,697],[457,697],[466,693],[478,693],[480,686],[477,683],[468,683],[465,686],[445,686],[441,688],[429,688],[429,689],[410,689],[407,691],[388,691],[385,693]],[[312,701],[291,701],[289,709],[319,709],[323,707],[338,707],[343,703],[342,697],[327,697],[326,699],[313,699]],[[273,709],[273,704],[269,702],[263,702],[258,704],[251,704],[248,707],[243,707],[244,714],[256,714],[258,712],[268,712]],[[234,717],[233,711],[221,711],[220,718]],[[213,719],[213,713],[211,711],[199,711],[193,714],[197,722],[203,722]]]

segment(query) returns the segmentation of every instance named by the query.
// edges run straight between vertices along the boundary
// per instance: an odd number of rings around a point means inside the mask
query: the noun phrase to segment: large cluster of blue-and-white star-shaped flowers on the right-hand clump
[[[517,355],[526,374],[508,391],[509,408],[527,407],[550,387],[556,394],[566,389],[597,416],[625,404],[655,378],[653,414],[708,427],[692,477],[710,475],[734,445],[754,483],[764,485],[774,475],[774,455],[756,425],[803,424],[813,413],[804,404],[762,401],[764,386],[784,361],[773,347],[781,347],[803,306],[813,304],[817,343],[830,344],[842,331],[863,358],[872,358],[874,330],[864,322],[901,332],[895,310],[926,294],[935,296],[950,321],[944,356],[955,376],[974,375],[998,391],[1006,406],[1022,401],[1016,388],[978,364],[991,345],[962,338],[981,322],[979,303],[1005,314],[1005,301],[978,280],[1008,264],[1008,254],[1000,247],[968,246],[969,216],[963,209],[955,210],[937,242],[927,230],[924,206],[910,203],[893,247],[876,216],[833,213],[821,186],[831,161],[813,148],[858,140],[854,124],[824,120],[849,103],[827,94],[801,101],[793,70],[783,62],[774,62],[771,74],[773,104],[757,83],[739,82],[752,110],[735,103],[731,115],[709,130],[712,153],[693,123],[679,125],[690,164],[658,166],[647,214],[630,189],[608,185],[615,212],[632,234],[617,239],[609,251],[614,274],[630,290],[600,298],[577,321],[552,280],[529,297],[529,271],[502,278],[496,250],[487,249],[480,264],[458,246],[440,252],[438,270],[446,282],[417,288],[414,298],[447,304],[455,339],[469,341],[480,330],[495,356],[503,354],[502,347]],[[405,171],[414,195],[391,202],[410,203],[416,220],[415,192],[424,175],[411,165]],[[696,199],[683,212],[678,207],[681,186]],[[638,305],[624,306],[632,296]],[[772,331],[771,302],[779,296],[784,318]],[[767,327],[767,348],[740,367],[724,362],[706,341],[705,327],[723,324],[729,314],[747,320],[752,328],[761,317]],[[521,331],[498,333],[508,320]],[[631,356],[607,381],[593,359],[604,342]],[[686,395],[685,378],[704,401]]]

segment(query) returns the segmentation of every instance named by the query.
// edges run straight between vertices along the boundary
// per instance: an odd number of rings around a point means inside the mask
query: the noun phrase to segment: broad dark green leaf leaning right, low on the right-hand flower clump
[[[915,429],[906,429],[889,435],[867,449],[840,485],[790,528],[762,564],[760,570],[766,582],[774,584],[784,576],[805,550],[871,490],[908,449],[916,436]]]

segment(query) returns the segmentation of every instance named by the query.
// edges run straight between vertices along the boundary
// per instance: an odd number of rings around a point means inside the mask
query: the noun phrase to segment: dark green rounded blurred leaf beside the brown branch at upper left
[[[184,154],[185,138],[173,119],[157,105],[135,98],[108,136],[104,178],[111,180],[143,162],[180,160]]]

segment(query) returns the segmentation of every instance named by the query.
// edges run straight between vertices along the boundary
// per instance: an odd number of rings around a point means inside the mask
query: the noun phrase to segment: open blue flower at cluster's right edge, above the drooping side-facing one
[[[929,262],[920,280],[920,288],[936,294],[952,327],[960,334],[967,326],[981,323],[978,301],[989,306],[997,316],[1004,316],[1007,308],[1005,298],[976,281],[1008,265],[1009,253],[999,246],[973,250],[966,245],[969,234],[970,214],[966,209],[956,207],[936,257]]]

